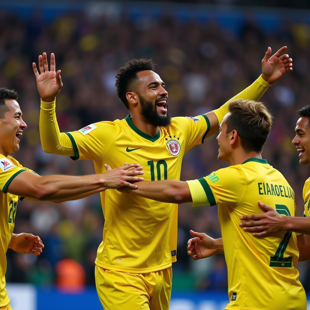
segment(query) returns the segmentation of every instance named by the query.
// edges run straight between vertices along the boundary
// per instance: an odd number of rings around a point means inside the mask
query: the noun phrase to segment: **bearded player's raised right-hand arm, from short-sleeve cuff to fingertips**
[[[270,57],[271,48],[268,47],[262,60],[261,76],[253,84],[228,100],[220,108],[206,113],[206,116],[210,121],[210,131],[208,132],[207,137],[219,131],[219,124],[222,122],[223,117],[228,113],[228,104],[232,100],[250,99],[258,101],[272,83],[279,80],[286,72],[293,70],[292,58],[290,58],[288,54],[281,55],[286,48],[286,46],[281,47]]]

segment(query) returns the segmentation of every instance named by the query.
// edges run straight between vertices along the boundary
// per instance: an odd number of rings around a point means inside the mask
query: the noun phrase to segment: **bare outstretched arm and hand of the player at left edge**
[[[16,175],[4,190],[17,196],[38,200],[70,200],[71,197],[83,194],[88,196],[89,192],[106,188],[136,188],[137,186],[129,181],[143,180],[142,177],[135,177],[144,173],[139,170],[139,164],[126,164],[113,170],[108,165],[105,166],[107,172],[104,174],[83,176],[40,176],[25,170]],[[138,169],[131,170],[133,167]]]

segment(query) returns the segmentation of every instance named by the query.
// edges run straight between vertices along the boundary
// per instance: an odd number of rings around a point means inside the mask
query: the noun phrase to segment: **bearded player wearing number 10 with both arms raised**
[[[292,70],[282,47],[262,61],[263,74],[234,98],[258,99],[268,86]],[[168,111],[165,83],[154,72],[152,60],[131,60],[117,72],[116,90],[130,114],[114,122],[98,122],[78,131],[60,133],[55,96],[63,86],[55,56],[39,56],[33,63],[41,96],[40,136],[47,153],[93,160],[96,173],[106,161],[140,161],[144,179],[179,179],[184,153],[218,131],[227,113],[221,108],[195,117],[173,117]],[[95,260],[95,280],[105,310],[168,309],[171,264],[176,261],[177,204],[158,203],[143,197],[106,191],[101,194],[105,218],[103,241]],[[115,283],[118,283],[116,285]]]

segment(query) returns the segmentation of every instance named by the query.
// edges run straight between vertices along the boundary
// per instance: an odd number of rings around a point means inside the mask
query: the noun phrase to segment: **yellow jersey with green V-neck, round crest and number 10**
[[[143,166],[147,181],[180,178],[183,155],[203,142],[210,128],[208,118],[174,117],[171,126],[150,136],[129,116],[114,122],[98,122],[67,133],[76,159],[94,161],[96,173],[104,164],[112,168],[124,162]],[[176,261],[177,205],[122,194],[101,193],[105,218],[103,242],[95,263],[105,269],[145,273],[161,270]]]

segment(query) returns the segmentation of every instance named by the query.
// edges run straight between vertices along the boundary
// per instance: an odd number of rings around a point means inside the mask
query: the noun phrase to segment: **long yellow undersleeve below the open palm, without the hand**
[[[64,156],[75,155],[70,138],[59,130],[55,113],[55,101],[46,103],[41,100],[39,127],[44,152]]]

